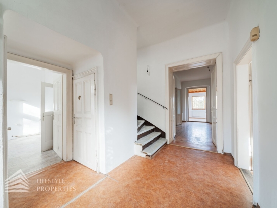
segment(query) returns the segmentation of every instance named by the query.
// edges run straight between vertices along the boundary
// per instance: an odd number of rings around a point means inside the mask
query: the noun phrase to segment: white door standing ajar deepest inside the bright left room
[[[41,82],[41,152],[53,148],[53,84]]]

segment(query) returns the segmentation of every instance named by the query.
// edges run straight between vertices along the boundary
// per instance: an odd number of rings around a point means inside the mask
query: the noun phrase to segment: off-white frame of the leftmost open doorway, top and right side
[[[23,65],[35,67],[39,70],[49,70],[62,75],[62,117],[63,117],[63,135],[62,135],[62,158],[64,161],[72,160],[72,70],[60,66],[52,65],[42,61],[26,58],[16,54],[8,53],[7,59],[19,62]],[[7,158],[6,158],[7,159]]]

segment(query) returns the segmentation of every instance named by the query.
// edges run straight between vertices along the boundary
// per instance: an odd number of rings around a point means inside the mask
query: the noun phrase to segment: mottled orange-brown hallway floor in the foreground
[[[152,160],[134,156],[108,175],[61,162],[29,175],[29,192],[10,192],[9,207],[252,207],[252,194],[228,155],[167,145]],[[42,185],[40,179],[64,183]]]

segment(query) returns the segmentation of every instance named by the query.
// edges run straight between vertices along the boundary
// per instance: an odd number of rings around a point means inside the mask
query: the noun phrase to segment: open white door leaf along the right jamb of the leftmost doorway
[[[62,76],[54,81],[54,145],[53,150],[62,159]]]

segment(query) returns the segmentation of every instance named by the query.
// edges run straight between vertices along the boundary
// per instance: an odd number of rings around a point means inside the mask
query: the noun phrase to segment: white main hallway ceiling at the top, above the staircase
[[[139,26],[138,48],[222,22],[227,17],[230,4],[230,0],[117,1]]]

